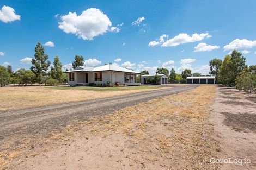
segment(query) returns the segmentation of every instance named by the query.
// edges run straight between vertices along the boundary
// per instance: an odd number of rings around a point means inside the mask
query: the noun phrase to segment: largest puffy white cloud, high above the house
[[[100,9],[89,8],[77,15],[69,12],[68,15],[60,17],[59,28],[65,33],[75,34],[83,40],[93,40],[95,36],[102,35],[111,30],[112,25],[106,14]],[[114,29],[114,28],[112,28]]]

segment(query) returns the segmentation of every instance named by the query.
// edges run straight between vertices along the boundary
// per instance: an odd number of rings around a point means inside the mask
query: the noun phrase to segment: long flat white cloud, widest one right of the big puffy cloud
[[[178,46],[184,43],[189,43],[189,42],[196,42],[196,41],[201,41],[204,40],[205,38],[209,38],[211,35],[209,33],[202,33],[202,34],[192,34],[192,36],[186,34],[186,33],[181,33],[179,35],[176,35],[172,39],[169,39],[165,41],[162,44],[162,47],[170,47],[170,46]]]

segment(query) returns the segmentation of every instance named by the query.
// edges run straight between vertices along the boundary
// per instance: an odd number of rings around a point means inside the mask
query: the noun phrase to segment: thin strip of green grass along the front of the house
[[[159,89],[157,86],[121,86],[121,87],[92,87],[92,86],[54,86],[47,87],[57,90],[91,90],[91,91],[126,91],[126,90],[142,90],[142,89]]]

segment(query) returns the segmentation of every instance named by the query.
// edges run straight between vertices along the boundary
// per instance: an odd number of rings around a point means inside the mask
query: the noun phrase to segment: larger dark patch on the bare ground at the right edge
[[[224,124],[231,127],[235,131],[248,130],[256,132],[256,116],[255,114],[231,114],[229,112],[223,112],[225,115]]]

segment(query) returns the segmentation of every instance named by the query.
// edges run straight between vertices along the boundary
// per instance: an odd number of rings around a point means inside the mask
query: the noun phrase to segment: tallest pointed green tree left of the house
[[[44,47],[38,42],[35,46],[35,58],[32,59],[31,71],[35,74],[36,81],[41,85],[41,79],[46,75],[46,71],[51,62],[48,61],[48,55],[45,54]]]

